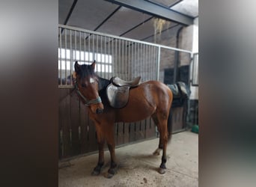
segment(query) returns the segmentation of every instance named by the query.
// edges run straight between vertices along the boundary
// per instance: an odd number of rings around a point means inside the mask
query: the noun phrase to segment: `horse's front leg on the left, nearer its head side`
[[[98,159],[98,164],[97,166],[94,168],[94,171],[92,171],[92,175],[99,175],[101,168],[104,165],[104,138],[103,138],[103,134],[101,133],[102,131],[100,129],[97,129],[97,141],[98,141],[98,147],[99,147],[99,159]]]

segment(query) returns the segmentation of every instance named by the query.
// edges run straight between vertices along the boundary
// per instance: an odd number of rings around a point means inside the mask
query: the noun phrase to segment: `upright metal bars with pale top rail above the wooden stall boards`
[[[159,80],[161,49],[191,54],[188,50],[67,25],[58,25],[58,38],[59,88],[73,88],[70,75],[75,61],[91,64],[96,60],[96,73],[105,79],[119,76],[130,80],[141,76],[141,82],[145,82]]]

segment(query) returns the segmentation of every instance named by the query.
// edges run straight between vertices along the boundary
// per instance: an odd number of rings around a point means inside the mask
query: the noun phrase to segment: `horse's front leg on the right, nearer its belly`
[[[112,124],[111,129],[108,130],[108,133],[106,135],[106,141],[111,156],[111,165],[108,170],[108,174],[106,174],[106,178],[112,178],[114,174],[116,174],[118,171],[118,165],[115,157],[114,123]]]

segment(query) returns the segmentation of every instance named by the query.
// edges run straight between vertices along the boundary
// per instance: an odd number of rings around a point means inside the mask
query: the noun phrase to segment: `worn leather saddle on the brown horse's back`
[[[135,88],[140,84],[141,77],[138,76],[132,81],[124,81],[119,77],[112,77],[110,84],[106,88],[109,104],[113,108],[123,108],[129,99],[129,89]]]

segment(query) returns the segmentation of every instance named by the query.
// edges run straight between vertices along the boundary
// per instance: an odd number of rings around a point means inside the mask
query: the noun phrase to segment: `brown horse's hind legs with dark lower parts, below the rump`
[[[159,167],[159,173],[165,174],[165,163],[166,163],[166,148],[168,142],[168,128],[167,128],[167,117],[164,114],[155,113],[152,115],[153,121],[156,123],[157,129],[160,134],[159,147],[156,149],[154,154],[159,155],[160,150],[162,150],[162,162]]]

